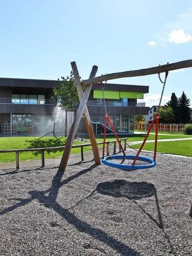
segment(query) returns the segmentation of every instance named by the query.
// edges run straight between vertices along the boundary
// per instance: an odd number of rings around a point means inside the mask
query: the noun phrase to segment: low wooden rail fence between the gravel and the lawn
[[[124,141],[124,150],[126,150],[126,138],[120,138],[120,141]],[[116,153],[116,143],[117,141],[105,141],[106,144],[106,154],[109,155],[110,154],[110,144],[113,144],[113,154]],[[98,142],[97,145],[102,145],[103,142]],[[84,160],[84,152],[83,152],[83,148],[84,147],[88,147],[91,146],[91,143],[87,143],[87,144],[80,144],[80,145],[73,145],[72,148],[77,148],[80,147],[81,148],[81,161]],[[44,167],[45,166],[45,151],[57,151],[57,150],[64,150],[65,146],[60,146],[60,147],[44,147],[44,148],[26,148],[26,149],[22,149],[22,150],[0,150],[0,153],[13,153],[15,152],[15,159],[16,159],[16,169],[19,169],[19,153],[22,152],[40,152],[41,153],[41,166]],[[119,148],[120,150],[120,148]]]

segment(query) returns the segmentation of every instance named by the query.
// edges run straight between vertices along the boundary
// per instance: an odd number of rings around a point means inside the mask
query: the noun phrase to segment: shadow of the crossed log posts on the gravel
[[[9,211],[13,211],[18,207],[25,206],[29,202],[37,199],[40,202],[40,204],[44,205],[45,207],[50,207],[54,209],[58,215],[60,215],[63,219],[65,219],[70,225],[74,226],[74,228],[76,228],[79,232],[89,234],[89,236],[107,244],[109,247],[113,248],[115,251],[117,251],[121,255],[140,256],[140,253],[138,253],[136,250],[122,243],[118,239],[115,239],[114,237],[110,236],[108,233],[104,232],[100,228],[94,228],[91,225],[89,225],[87,222],[80,220],[72,212],[70,212],[70,209],[63,208],[56,201],[57,195],[59,193],[59,188],[61,186],[71,182],[73,179],[78,178],[83,174],[86,174],[87,172],[90,172],[95,167],[97,167],[97,165],[93,164],[90,168],[83,169],[81,170],[81,172],[75,175],[72,175],[71,177],[68,177],[67,179],[64,179],[62,181],[61,179],[63,176],[63,172],[58,170],[54,179],[52,180],[51,187],[48,190],[29,191],[28,193],[31,196],[30,198],[25,198],[25,199],[17,198],[19,202],[1,211],[0,216],[3,214],[6,214]],[[45,194],[48,192],[49,192],[49,195],[46,196]],[[59,226],[58,223],[51,223],[51,225]],[[88,249],[90,249],[90,246],[88,247]]]

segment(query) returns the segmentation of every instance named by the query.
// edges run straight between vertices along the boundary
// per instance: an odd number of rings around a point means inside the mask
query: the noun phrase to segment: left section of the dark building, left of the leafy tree
[[[52,88],[58,84],[51,80],[0,78],[0,134],[50,132],[56,121],[52,117],[60,110],[51,99]]]

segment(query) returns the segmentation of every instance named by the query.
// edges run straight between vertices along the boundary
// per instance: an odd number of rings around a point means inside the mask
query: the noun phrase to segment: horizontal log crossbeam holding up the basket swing
[[[153,68],[104,74],[103,76],[100,76],[100,77],[94,77],[91,79],[83,80],[81,81],[81,85],[88,86],[91,83],[98,83],[98,82],[108,81],[108,80],[117,79],[117,78],[147,76],[148,74],[157,74],[165,71],[181,69],[181,68],[190,68],[190,67],[192,67],[192,60],[184,60],[184,61],[174,62],[174,63],[153,67]]]

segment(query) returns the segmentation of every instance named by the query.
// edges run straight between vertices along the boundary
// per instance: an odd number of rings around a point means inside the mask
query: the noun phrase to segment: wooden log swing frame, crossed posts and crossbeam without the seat
[[[69,159],[69,154],[70,154],[71,147],[72,147],[72,143],[73,143],[75,135],[77,133],[77,129],[78,129],[78,126],[79,126],[82,116],[84,117],[88,135],[89,135],[89,138],[91,141],[95,164],[101,164],[98,146],[97,146],[97,143],[95,140],[89,112],[88,112],[87,105],[86,105],[93,83],[98,83],[98,82],[102,82],[102,81],[106,81],[106,80],[108,81],[108,80],[117,79],[117,78],[124,78],[124,77],[147,76],[149,74],[156,74],[156,73],[158,74],[158,73],[163,73],[163,72],[167,72],[170,70],[189,68],[189,67],[192,67],[192,60],[184,60],[184,61],[179,61],[179,62],[175,62],[175,63],[170,63],[170,64],[152,67],[152,68],[140,69],[140,70],[131,70],[131,71],[125,71],[125,72],[105,74],[105,75],[99,76],[99,77],[95,77],[98,67],[93,66],[89,79],[83,80],[83,81],[80,81],[79,72],[78,72],[78,69],[76,66],[76,62],[71,62],[71,67],[72,67],[72,71],[74,74],[74,79],[76,81],[74,86],[77,87],[80,105],[79,105],[79,109],[77,111],[76,118],[74,119],[74,121],[71,125],[66,148],[65,148],[65,151],[63,152],[61,162],[59,165],[59,170],[62,170],[63,172],[66,169],[68,159]],[[84,89],[84,93],[82,91],[82,86],[86,87]]]

